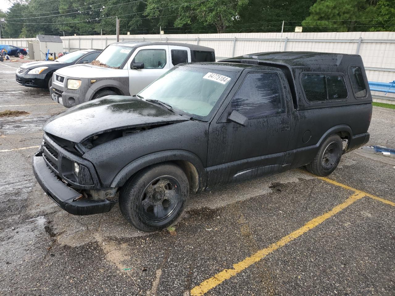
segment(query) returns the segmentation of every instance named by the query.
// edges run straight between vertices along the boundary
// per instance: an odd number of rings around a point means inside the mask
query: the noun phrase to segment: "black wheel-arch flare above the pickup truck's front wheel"
[[[203,163],[197,155],[186,150],[166,150],[139,157],[120,170],[111,182],[111,187],[123,186],[131,176],[145,167],[156,163],[177,160],[189,161],[194,165],[199,174],[199,189],[203,188],[207,178]]]

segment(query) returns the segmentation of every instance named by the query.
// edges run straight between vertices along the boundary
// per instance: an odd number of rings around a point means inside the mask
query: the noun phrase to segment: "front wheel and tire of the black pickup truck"
[[[177,165],[153,165],[138,172],[121,189],[119,206],[139,230],[152,232],[174,223],[189,195],[188,178]]]

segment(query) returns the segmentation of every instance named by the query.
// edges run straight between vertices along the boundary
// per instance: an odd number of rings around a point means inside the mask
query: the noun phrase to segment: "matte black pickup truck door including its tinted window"
[[[210,124],[208,187],[273,173],[286,163],[292,99],[282,72],[248,72],[239,80],[224,113]],[[246,126],[228,120],[233,110],[248,118]]]

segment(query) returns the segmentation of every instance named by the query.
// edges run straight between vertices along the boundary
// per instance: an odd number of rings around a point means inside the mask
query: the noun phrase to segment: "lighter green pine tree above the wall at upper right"
[[[371,28],[376,0],[318,0],[302,22],[308,32],[352,32]],[[369,21],[358,21],[369,19]]]

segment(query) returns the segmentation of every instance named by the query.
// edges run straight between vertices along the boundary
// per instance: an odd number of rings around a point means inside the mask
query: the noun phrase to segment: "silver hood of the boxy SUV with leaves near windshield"
[[[56,71],[56,74],[75,77],[75,78],[108,78],[108,77],[129,77],[127,69],[113,69],[107,67],[98,67],[89,64],[77,64],[64,67]]]

